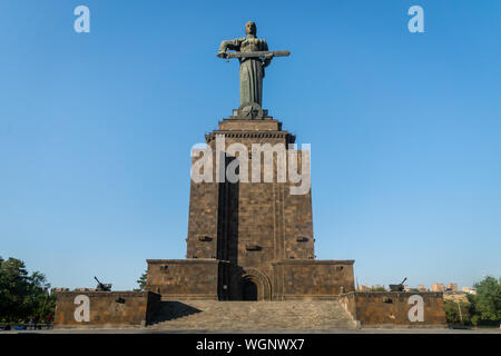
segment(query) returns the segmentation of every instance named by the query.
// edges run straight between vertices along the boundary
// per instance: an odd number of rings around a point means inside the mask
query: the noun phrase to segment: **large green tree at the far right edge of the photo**
[[[488,276],[474,285],[477,295],[469,295],[473,325],[499,325],[501,323],[501,278]]]

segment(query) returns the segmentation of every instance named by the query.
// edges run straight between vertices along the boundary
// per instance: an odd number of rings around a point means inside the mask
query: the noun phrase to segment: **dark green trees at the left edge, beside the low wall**
[[[49,287],[46,276],[39,271],[29,275],[22,260],[0,257],[0,319],[39,316],[43,322],[47,315],[53,315],[56,305]]]

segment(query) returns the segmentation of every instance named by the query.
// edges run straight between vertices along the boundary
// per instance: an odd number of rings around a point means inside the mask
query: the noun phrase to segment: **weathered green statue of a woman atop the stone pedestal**
[[[264,39],[256,37],[256,23],[249,21],[245,24],[245,33],[247,37],[237,38],[235,40],[223,41],[219,46],[219,53],[226,50],[235,50],[239,52],[267,51],[268,44]],[[263,101],[263,78],[265,76],[265,67],[273,59],[273,53],[262,58],[240,58],[240,106],[244,103],[255,102],[262,106]]]

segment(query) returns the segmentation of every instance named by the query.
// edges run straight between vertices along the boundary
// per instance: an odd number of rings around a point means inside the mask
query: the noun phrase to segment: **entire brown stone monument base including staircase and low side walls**
[[[259,120],[235,115],[206,136],[212,161],[204,169],[215,166],[219,156],[225,169],[238,159],[242,174],[246,162],[232,144],[249,149],[253,144],[276,147],[294,139],[267,115]],[[297,166],[303,167],[307,155],[297,154]],[[252,151],[247,165],[263,158],[259,155]],[[255,165],[273,165],[277,172],[278,156]],[[212,175],[216,177],[214,169]],[[445,326],[442,293],[355,291],[353,260],[316,260],[311,190],[293,195],[291,184],[274,177],[271,182],[191,180],[187,258],[147,260],[147,291],[58,293],[55,326],[215,330]]]

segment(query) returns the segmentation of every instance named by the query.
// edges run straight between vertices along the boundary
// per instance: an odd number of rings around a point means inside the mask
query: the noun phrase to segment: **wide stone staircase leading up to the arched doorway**
[[[337,300],[161,301],[148,328],[171,330],[328,330],[356,323]]]

